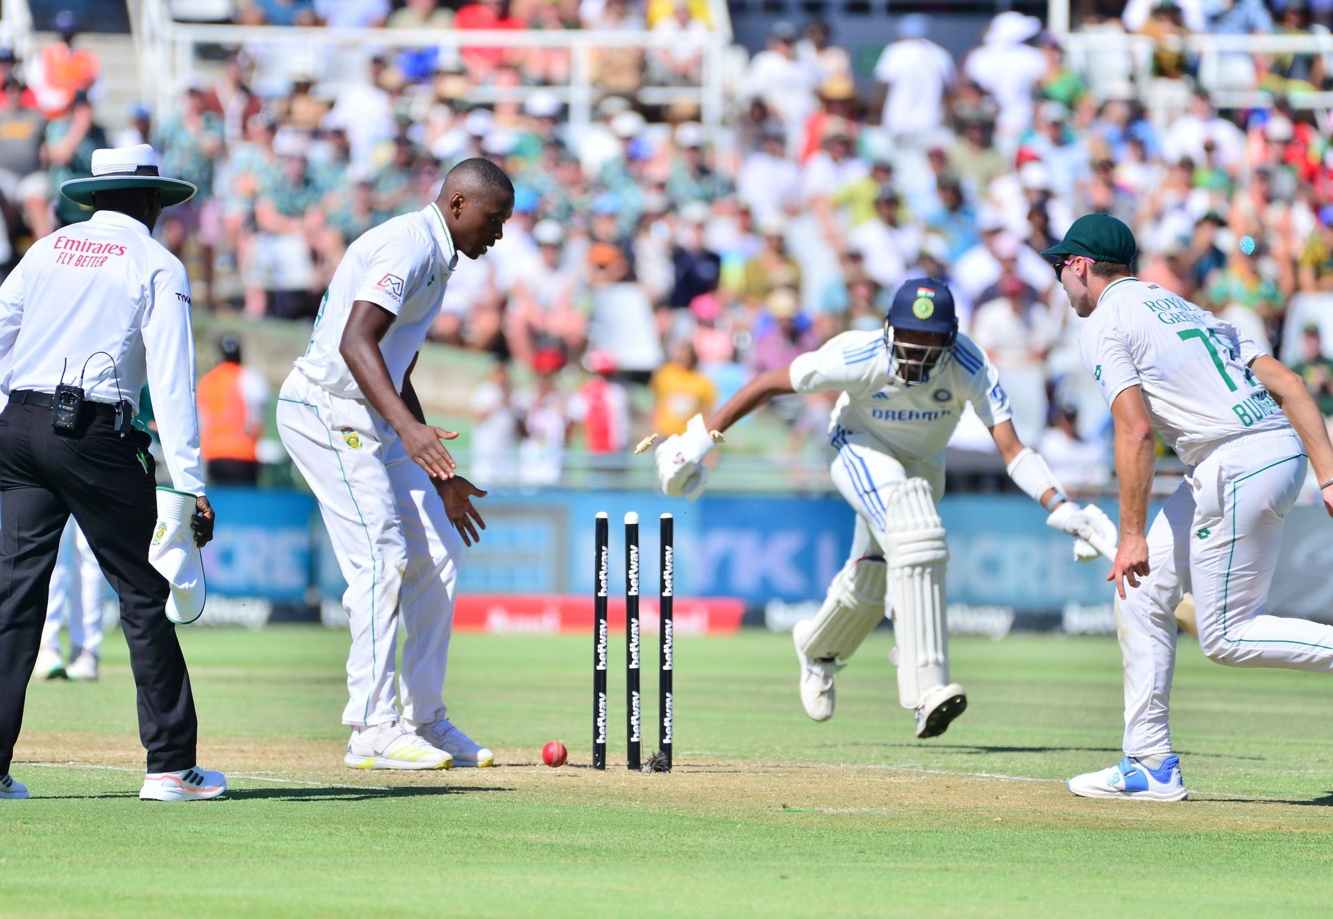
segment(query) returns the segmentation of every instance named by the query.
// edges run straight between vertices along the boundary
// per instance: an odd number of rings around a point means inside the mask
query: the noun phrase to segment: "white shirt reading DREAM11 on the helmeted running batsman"
[[[861,433],[905,462],[940,454],[969,402],[986,428],[1009,420],[998,372],[964,334],[925,382],[904,386],[889,377],[882,330],[844,332],[792,361],[792,389],[841,390],[829,420],[832,440]]]

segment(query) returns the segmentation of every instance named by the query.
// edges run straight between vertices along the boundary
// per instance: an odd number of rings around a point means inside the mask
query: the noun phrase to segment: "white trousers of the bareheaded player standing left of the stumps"
[[[365,401],[340,398],[292,370],[277,430],[320,502],[352,626],[343,723],[444,718],[441,701],[461,539],[425,470]],[[395,691],[401,614],[407,638]]]

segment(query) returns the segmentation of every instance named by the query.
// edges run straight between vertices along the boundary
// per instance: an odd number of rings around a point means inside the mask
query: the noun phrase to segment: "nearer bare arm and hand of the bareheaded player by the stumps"
[[[404,397],[393,388],[393,377],[380,353],[380,341],[393,325],[393,313],[368,300],[352,304],[352,313],[343,329],[339,353],[347,361],[352,378],[361,393],[371,401],[388,425],[403,440],[407,454],[424,469],[431,478],[445,479],[453,475],[456,463],[441,440],[452,441],[457,432],[428,425],[413,416]],[[412,394],[416,398],[416,393]],[[420,410],[420,404],[417,404]]]

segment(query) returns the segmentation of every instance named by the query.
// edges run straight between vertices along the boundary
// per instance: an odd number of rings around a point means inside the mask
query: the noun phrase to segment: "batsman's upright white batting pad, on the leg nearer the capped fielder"
[[[898,646],[898,702],[916,709],[924,691],[949,682],[944,573],[949,546],[930,483],[909,478],[885,514],[893,634]]]

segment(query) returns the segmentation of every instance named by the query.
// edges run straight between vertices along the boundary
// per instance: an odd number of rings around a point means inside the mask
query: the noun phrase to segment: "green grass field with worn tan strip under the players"
[[[956,639],[970,707],[918,743],[874,635],[817,725],[786,635],[677,646],[677,770],[589,759],[591,641],[459,635],[451,714],[495,770],[341,766],[345,634],[181,630],[201,765],[229,798],[152,804],[124,643],[97,685],[36,683],[0,802],[3,916],[1237,916],[1333,911],[1333,681],[1238,671],[1181,639],[1194,799],[1072,798],[1118,758],[1113,639]],[[645,642],[656,739],[656,641]],[[540,763],[563,739],[571,766]],[[652,743],[645,745],[652,747]]]

